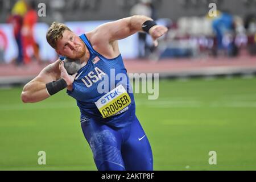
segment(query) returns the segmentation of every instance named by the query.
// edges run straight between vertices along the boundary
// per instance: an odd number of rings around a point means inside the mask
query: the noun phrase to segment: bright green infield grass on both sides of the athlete
[[[76,101],[23,104],[21,91],[0,89],[0,170],[96,170]],[[256,78],[160,80],[157,100],[135,102],[155,170],[256,170]]]

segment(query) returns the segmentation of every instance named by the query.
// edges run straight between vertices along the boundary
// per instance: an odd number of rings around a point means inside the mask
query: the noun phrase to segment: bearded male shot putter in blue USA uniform
[[[46,37],[60,59],[28,82],[21,94],[24,103],[39,102],[67,88],[80,108],[82,131],[98,170],[153,169],[150,143],[135,115],[134,96],[128,92],[131,85],[117,42],[138,31],[147,32],[156,41],[167,28],[135,15],[77,36],[64,24],[53,22]],[[81,68],[75,75],[68,74],[63,57],[80,60]],[[106,93],[98,92],[101,82],[110,82],[111,69],[126,79],[109,84]]]

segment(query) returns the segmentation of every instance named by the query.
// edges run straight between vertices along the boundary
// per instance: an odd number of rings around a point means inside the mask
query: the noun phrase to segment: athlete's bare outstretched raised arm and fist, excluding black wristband
[[[134,15],[127,18],[119,19],[114,22],[102,24],[94,30],[94,39],[101,44],[110,44],[115,46],[116,40],[125,39],[138,31],[143,31],[142,25],[151,18],[143,15]],[[148,34],[155,41],[167,32],[167,27],[155,25],[150,28]]]

